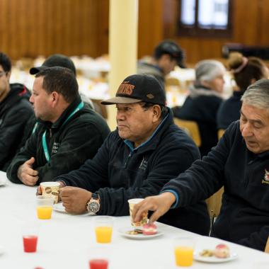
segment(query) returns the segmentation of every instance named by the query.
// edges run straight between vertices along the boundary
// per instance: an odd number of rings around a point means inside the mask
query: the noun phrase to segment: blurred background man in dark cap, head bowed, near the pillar
[[[154,49],[151,62],[139,61],[137,66],[138,74],[150,74],[164,86],[164,78],[178,65],[184,68],[183,51],[176,42],[164,40]]]

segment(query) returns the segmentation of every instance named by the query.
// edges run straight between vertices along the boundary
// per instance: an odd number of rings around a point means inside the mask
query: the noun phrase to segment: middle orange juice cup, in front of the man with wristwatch
[[[113,217],[97,216],[94,217],[94,229],[96,232],[97,243],[110,243],[113,231]]]

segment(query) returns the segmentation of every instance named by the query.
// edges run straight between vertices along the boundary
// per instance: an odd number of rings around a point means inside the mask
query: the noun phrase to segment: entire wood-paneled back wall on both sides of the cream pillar
[[[178,36],[178,0],[139,0],[138,56],[151,55],[164,38],[176,40],[190,63],[221,57],[227,42],[269,46],[269,0],[231,1],[234,32],[224,39]],[[13,59],[98,57],[108,53],[108,8],[109,0],[0,0],[0,50]]]

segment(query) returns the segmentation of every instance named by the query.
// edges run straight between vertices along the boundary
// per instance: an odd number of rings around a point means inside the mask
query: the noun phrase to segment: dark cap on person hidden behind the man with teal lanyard
[[[35,75],[38,74],[39,71],[47,68],[47,67],[66,67],[73,71],[76,76],[76,67],[74,62],[65,55],[50,55],[45,62],[42,63],[41,67],[32,67],[30,69],[30,74]]]

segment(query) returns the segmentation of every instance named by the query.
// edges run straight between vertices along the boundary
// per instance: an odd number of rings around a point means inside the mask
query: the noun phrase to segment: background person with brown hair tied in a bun
[[[219,106],[217,113],[217,128],[227,127],[240,118],[241,96],[249,85],[259,79],[268,79],[269,72],[263,61],[257,57],[243,57],[239,52],[229,55],[228,67],[234,76],[236,86],[233,96]]]

